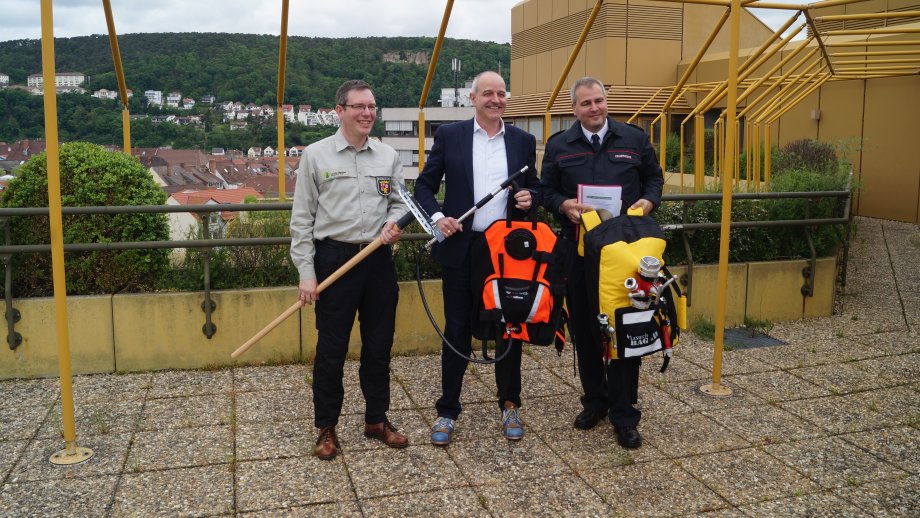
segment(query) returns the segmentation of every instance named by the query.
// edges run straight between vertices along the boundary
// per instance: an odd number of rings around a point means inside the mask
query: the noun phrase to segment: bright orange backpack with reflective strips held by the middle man
[[[483,232],[471,252],[473,293],[481,294],[472,315],[474,337],[555,343],[562,351],[565,277],[560,246],[552,229],[537,221],[496,220]]]

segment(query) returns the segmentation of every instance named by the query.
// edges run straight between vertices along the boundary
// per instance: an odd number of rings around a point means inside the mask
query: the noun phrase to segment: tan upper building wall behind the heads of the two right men
[[[511,85],[516,95],[551,91],[565,68],[595,2],[526,0],[511,11]],[[576,56],[563,88],[591,75],[605,84],[667,86],[676,66],[692,57],[724,8],[652,0],[608,0]],[[755,45],[772,31],[744,13],[743,42]],[[727,28],[712,51],[727,49]]]

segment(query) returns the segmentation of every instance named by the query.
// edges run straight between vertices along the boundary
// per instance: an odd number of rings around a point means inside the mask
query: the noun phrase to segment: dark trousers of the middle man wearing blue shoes
[[[445,266],[442,273],[442,291],[444,295],[444,336],[458,351],[469,355],[472,350],[471,318],[476,310],[477,299],[481,293],[474,293],[471,285],[470,257],[459,268]],[[499,348],[496,354],[504,349]],[[441,344],[441,397],[435,403],[438,417],[457,419],[462,410],[460,392],[463,388],[463,374],[469,362],[447,344]],[[511,351],[502,361],[495,364],[495,385],[498,395],[498,408],[504,408],[504,402],[510,401],[521,406],[521,343],[517,340]]]

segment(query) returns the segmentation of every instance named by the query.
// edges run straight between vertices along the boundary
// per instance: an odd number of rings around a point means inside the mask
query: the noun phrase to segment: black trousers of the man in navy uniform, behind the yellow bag
[[[585,410],[608,412],[614,426],[636,426],[642,417],[642,413],[633,406],[639,392],[642,359],[619,359],[604,365],[597,315],[588,301],[585,260],[578,255],[577,243],[572,239],[566,241],[565,300],[578,357],[578,374],[584,390],[581,405]]]

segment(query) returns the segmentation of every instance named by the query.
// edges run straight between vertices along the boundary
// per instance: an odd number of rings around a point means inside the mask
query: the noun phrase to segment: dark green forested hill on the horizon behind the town
[[[284,101],[289,104],[331,106],[335,89],[346,79],[364,79],[374,88],[382,106],[417,106],[427,65],[388,62],[384,54],[431,54],[434,38],[369,37],[305,38],[291,36],[287,47]],[[119,36],[128,88],[179,91],[199,99],[213,94],[218,100],[274,105],[278,84],[279,37],[220,33],[151,33]],[[116,89],[108,36],[55,40],[59,72],[91,76],[89,90]],[[453,86],[452,58],[463,62],[461,80],[486,69],[508,78],[511,47],[491,42],[446,39],[428,97],[433,105],[442,87]],[[407,60],[408,61],[408,60]],[[41,42],[0,42],[0,72],[13,84],[25,84],[29,74],[41,72]],[[462,85],[461,85],[462,86]]]

